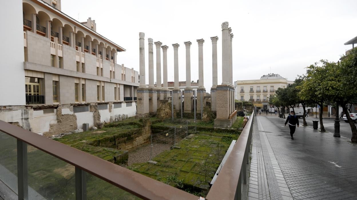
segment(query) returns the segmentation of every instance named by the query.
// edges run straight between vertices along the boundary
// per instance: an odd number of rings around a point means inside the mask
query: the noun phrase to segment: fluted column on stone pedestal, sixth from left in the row
[[[186,87],[184,92],[184,112],[191,113],[193,109],[193,90],[191,87],[191,42],[184,42],[186,46]]]

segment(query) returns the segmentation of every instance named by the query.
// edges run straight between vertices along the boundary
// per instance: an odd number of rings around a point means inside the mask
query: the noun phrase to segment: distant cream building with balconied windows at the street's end
[[[263,75],[257,80],[235,81],[235,99],[251,101],[257,108],[266,109],[270,95],[275,94],[276,89],[285,88],[292,83],[293,81],[274,73]]]

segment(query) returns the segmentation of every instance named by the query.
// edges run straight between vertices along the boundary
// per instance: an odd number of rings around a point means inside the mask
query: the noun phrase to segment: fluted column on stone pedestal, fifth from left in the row
[[[178,85],[178,47],[179,44],[172,44],[174,47],[174,89],[172,89],[172,103],[175,106],[176,111],[181,111],[181,89]]]

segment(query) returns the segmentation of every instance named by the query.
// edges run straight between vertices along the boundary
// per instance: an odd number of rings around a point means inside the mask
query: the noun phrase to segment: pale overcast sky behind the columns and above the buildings
[[[118,64],[139,71],[139,32],[169,46],[168,81],[174,81],[174,50],[178,43],[180,81],[186,79],[185,45],[191,41],[191,79],[198,79],[198,45],[203,38],[204,83],[212,86],[212,42],[218,36],[218,84],[222,82],[222,29],[228,21],[233,38],[233,81],[277,73],[293,81],[320,59],[337,61],[357,35],[356,0],[62,0],[62,11],[76,20],[88,17],[97,32],[126,49]],[[156,55],[154,45],[154,71]],[[161,52],[162,56],[162,52]],[[162,63],[162,61],[161,61]],[[156,82],[156,76],[155,76]]]

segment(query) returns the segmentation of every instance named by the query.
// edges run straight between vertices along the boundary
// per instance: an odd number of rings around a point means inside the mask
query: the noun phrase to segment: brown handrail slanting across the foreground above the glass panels
[[[0,120],[0,131],[107,181],[142,199],[198,200],[199,197],[89,153]],[[93,165],[94,164],[94,165]]]

